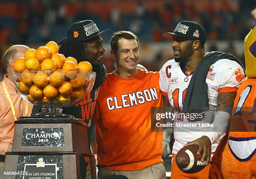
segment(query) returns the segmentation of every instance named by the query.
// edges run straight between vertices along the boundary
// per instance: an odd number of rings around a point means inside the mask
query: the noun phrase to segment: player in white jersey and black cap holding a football
[[[197,154],[202,154],[206,164],[210,163],[211,153],[225,135],[231,112],[231,108],[225,107],[233,106],[236,91],[244,78],[243,68],[229,53],[205,53],[206,33],[195,22],[181,21],[174,33],[163,35],[173,40],[174,59],[167,61],[160,70],[161,91],[168,95],[176,112],[204,111],[203,118],[196,120],[200,127],[187,125],[195,122],[193,118],[174,118],[171,177],[208,178],[210,165],[195,174],[186,174],[177,167],[175,156],[184,145],[198,144]]]

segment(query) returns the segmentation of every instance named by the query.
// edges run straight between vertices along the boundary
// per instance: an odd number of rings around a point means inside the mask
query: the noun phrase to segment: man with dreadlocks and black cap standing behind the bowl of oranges
[[[92,114],[94,112],[95,104],[97,101],[100,86],[105,80],[106,68],[102,63],[102,56],[105,52],[103,47],[103,40],[100,36],[107,30],[100,31],[97,25],[92,20],[77,21],[72,24],[68,31],[67,37],[61,40],[58,44],[61,45],[59,53],[65,57],[74,57],[77,63],[81,61],[88,61],[92,64],[92,71],[96,72],[96,80],[90,94],[77,103],[75,106],[63,108],[63,113],[71,114],[76,118],[80,118],[84,123],[88,124],[88,145],[90,148],[92,136]],[[34,106],[32,113],[38,113],[39,106]],[[86,167],[86,166],[85,166]],[[85,171],[81,169],[81,173]],[[85,176],[81,176],[84,178]]]

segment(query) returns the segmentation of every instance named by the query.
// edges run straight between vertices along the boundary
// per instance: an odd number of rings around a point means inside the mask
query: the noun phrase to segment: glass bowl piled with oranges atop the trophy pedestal
[[[37,50],[28,49],[13,64],[13,81],[20,96],[42,107],[42,113],[33,116],[67,116],[62,108],[81,101],[94,85],[96,73],[89,62],[77,63],[58,52],[58,45],[50,41]]]

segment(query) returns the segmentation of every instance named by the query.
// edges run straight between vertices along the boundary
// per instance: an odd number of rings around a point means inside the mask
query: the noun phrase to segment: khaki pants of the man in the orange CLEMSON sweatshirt
[[[100,168],[98,171],[98,179],[102,179],[108,175],[124,175],[128,179],[166,179],[164,165],[162,163],[154,164],[148,166],[143,170],[133,170],[133,171],[116,171],[106,168]]]

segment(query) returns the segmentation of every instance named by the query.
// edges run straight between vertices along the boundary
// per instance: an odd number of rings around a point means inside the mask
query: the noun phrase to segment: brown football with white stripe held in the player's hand
[[[199,146],[192,144],[184,146],[176,155],[176,164],[183,172],[187,174],[194,174],[201,171],[206,166],[206,160],[201,161],[202,154],[197,155]]]

